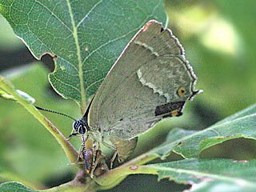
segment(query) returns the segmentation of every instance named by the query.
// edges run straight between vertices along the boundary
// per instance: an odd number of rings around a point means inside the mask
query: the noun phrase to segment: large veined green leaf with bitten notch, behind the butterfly
[[[50,82],[82,109],[134,34],[153,18],[166,25],[162,0],[0,0],[0,13],[35,58],[56,57]]]

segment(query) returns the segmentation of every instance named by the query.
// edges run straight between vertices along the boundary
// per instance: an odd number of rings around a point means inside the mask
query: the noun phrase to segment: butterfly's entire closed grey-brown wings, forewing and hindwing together
[[[195,94],[195,80],[178,39],[161,23],[148,22],[102,82],[90,107],[89,126],[103,137],[134,138],[170,112],[171,103],[182,103],[175,106],[181,111]],[[181,86],[186,93],[178,96]],[[166,103],[170,107],[162,111]]]

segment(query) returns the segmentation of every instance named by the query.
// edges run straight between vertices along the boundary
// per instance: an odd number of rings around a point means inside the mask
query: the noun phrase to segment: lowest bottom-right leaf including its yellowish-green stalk
[[[102,187],[108,188],[117,185],[129,174],[158,174],[159,180],[169,178],[177,183],[190,184],[192,189],[198,184],[206,183],[212,188],[205,191],[218,191],[213,190],[214,185],[227,185],[235,187],[235,190],[250,191],[256,187],[255,171],[256,160],[248,162],[230,159],[190,158],[146,166],[123,166],[106,173],[108,179],[103,179],[106,176],[103,175],[102,178],[97,178],[97,181]]]

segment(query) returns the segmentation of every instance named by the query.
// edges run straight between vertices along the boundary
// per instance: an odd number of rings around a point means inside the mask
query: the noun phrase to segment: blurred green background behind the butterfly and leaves
[[[182,117],[166,119],[142,135],[135,156],[163,142],[173,127],[202,130],[256,102],[255,7],[254,0],[166,0],[169,28],[186,50],[198,77],[196,88],[204,92],[187,103]],[[47,74],[53,68],[50,56],[35,61],[0,16],[0,74],[34,97],[36,105],[79,118],[78,105],[51,89]],[[56,114],[46,117],[63,134],[70,134],[70,119]],[[69,165],[58,143],[22,106],[0,100],[0,131],[0,182],[5,176],[49,187],[74,177],[76,169]],[[78,138],[72,143],[79,148]],[[201,158],[252,159],[256,158],[255,147],[250,139],[235,139],[211,147]],[[179,158],[171,154],[166,161]],[[143,175],[130,176],[111,191],[170,191],[170,187],[179,191],[188,186],[157,182],[155,176]]]

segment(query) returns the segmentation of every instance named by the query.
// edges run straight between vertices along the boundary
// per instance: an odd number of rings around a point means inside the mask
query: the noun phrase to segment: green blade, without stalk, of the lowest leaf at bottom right
[[[214,182],[215,185],[235,186],[233,191],[252,190],[256,184],[256,161],[234,161],[230,159],[185,159],[149,165],[158,171],[158,178],[170,178],[178,183],[198,184]],[[209,186],[209,185],[208,185]],[[193,188],[193,187],[192,187]],[[205,191],[210,191],[210,188]],[[235,190],[236,189],[236,190]],[[219,191],[219,190],[217,190]]]

